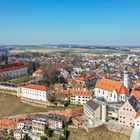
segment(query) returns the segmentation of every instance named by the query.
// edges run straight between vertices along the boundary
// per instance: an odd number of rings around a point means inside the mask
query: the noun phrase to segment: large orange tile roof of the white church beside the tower
[[[114,81],[105,78],[102,78],[97,81],[96,88],[107,90],[107,91],[115,90],[119,94],[128,94],[128,89],[124,86],[123,82]]]

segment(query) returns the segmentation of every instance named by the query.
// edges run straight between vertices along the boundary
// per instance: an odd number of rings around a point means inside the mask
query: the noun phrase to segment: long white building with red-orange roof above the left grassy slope
[[[38,101],[47,101],[47,97],[49,94],[52,93],[50,87],[42,86],[42,85],[35,85],[35,84],[28,84],[22,87],[22,95],[21,97],[30,99],[30,100],[38,100]]]

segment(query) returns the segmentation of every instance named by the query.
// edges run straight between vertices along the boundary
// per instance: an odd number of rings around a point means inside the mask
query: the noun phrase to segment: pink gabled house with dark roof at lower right
[[[134,126],[134,120],[140,110],[139,102],[136,97],[131,96],[119,109],[119,124]]]

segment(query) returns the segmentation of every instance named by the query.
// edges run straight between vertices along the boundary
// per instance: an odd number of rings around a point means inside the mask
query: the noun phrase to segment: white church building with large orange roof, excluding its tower
[[[105,78],[97,80],[94,93],[96,98],[104,98],[107,102],[125,102],[129,97],[123,82]]]

